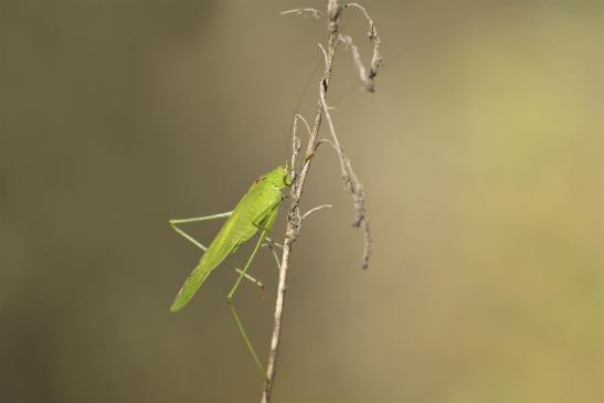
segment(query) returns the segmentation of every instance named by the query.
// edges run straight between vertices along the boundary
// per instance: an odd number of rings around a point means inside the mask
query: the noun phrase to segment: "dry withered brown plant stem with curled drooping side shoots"
[[[370,21],[370,26],[371,26],[370,33],[372,33],[372,35],[370,35],[370,40],[374,43],[374,59],[377,57],[377,61],[374,63],[372,62],[371,71],[367,74],[367,79],[369,79],[370,82],[373,82],[373,78],[375,77],[377,70],[381,61],[381,59],[379,57],[379,52],[378,52],[379,38],[375,33],[373,21],[369,18],[369,14],[364,10],[364,8],[358,4],[357,6],[351,6],[351,4],[356,4],[356,3],[350,3],[350,4],[341,7],[338,3],[338,0],[328,0],[327,22],[328,22],[329,38],[327,41],[327,46],[326,46],[327,49],[325,49],[322,45],[319,45],[325,57],[325,68],[319,79],[319,100],[317,103],[317,112],[315,115],[315,120],[312,123],[312,127],[310,128],[310,125],[301,115],[296,115],[294,119],[294,130],[292,135],[293,136],[293,142],[292,142],[293,184],[290,190],[292,203],[289,206],[289,212],[287,214],[286,233],[285,233],[285,240],[283,242],[283,253],[282,253],[280,265],[279,265],[279,279],[277,285],[277,297],[275,301],[274,325],[273,325],[273,332],[271,337],[271,347],[268,351],[268,362],[266,367],[266,382],[262,393],[262,403],[268,403],[271,401],[271,393],[273,391],[273,385],[275,382],[277,357],[279,352],[283,309],[284,309],[284,301],[285,301],[285,293],[287,289],[287,272],[289,269],[289,258],[292,256],[292,246],[298,238],[300,225],[303,221],[306,218],[308,218],[308,215],[311,214],[312,212],[327,208],[327,205],[320,205],[309,210],[304,215],[300,213],[300,198],[303,194],[304,184],[306,182],[306,178],[308,174],[308,170],[310,168],[310,162],[312,161],[312,157],[315,156],[315,152],[317,151],[317,148],[319,147],[321,142],[327,142],[331,145],[333,149],[336,149],[338,157],[340,159],[340,168],[342,171],[342,179],[345,181],[345,187],[351,192],[353,202],[354,202],[354,208],[357,211],[353,225],[361,226],[364,230],[364,234],[365,234],[364,253],[363,253],[363,261],[362,261],[361,267],[367,268],[369,264],[371,236],[369,232],[369,222],[367,220],[367,213],[364,209],[363,188],[361,183],[359,182],[357,176],[352,171],[350,160],[346,156],[343,148],[341,144],[339,142],[339,139],[336,135],[336,130],[333,127],[333,121],[331,119],[331,115],[329,114],[329,108],[326,103],[326,95],[329,88],[329,82],[331,79],[331,74],[332,74],[333,55],[336,54],[338,44],[342,42],[342,36],[339,33],[339,23],[340,23],[341,12],[345,8],[347,7],[360,8],[365,14],[365,17],[368,18],[368,20]],[[308,11],[308,9],[289,10],[289,11],[286,11],[285,13],[286,14],[311,13],[312,17],[320,17],[318,12],[315,13],[314,11]],[[373,86],[371,86],[370,89],[372,91]],[[332,140],[328,140],[328,139],[319,140],[319,137],[318,137],[319,129],[321,127],[324,116],[326,117],[328,121]],[[301,161],[303,162],[301,168],[299,169],[299,172],[296,172],[295,170],[296,162],[299,159],[299,153],[301,150],[301,141],[297,135],[298,119],[305,124],[307,131],[309,132],[309,136],[308,136],[308,142],[306,146],[306,151],[304,155],[304,160]]]

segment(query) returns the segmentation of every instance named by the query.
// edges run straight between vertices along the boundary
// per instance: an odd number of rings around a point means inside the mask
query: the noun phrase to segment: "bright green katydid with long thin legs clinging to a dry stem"
[[[184,285],[180,288],[170,310],[177,312],[182,309],[193,298],[195,293],[200,289],[208,276],[221,264],[226,263],[239,273],[239,277],[231,288],[231,291],[226,296],[229,307],[233,314],[233,318],[237,325],[237,328],[250,350],[256,365],[261,372],[264,373],[263,365],[247,338],[247,335],[243,328],[243,325],[236,314],[233,306],[233,298],[237,288],[243,280],[247,278],[262,287],[262,283],[254,277],[247,275],[247,269],[254,259],[254,256],[258,252],[258,248],[265,242],[266,234],[273,227],[280,202],[284,197],[283,190],[292,185],[292,177],[289,176],[287,165],[279,166],[268,173],[257,179],[247,193],[240,200],[233,211],[226,213],[220,213],[208,216],[199,216],[184,220],[170,220],[172,227],[187,240],[195,244],[205,253],[201,256],[198,265],[193,268]],[[226,222],[222,225],[220,232],[214,237],[209,247],[203,246],[195,241],[191,235],[178,227],[178,224],[208,221],[214,219],[224,219]],[[259,233],[258,241],[250,255],[243,269],[239,269],[233,265],[225,262],[226,257],[234,253],[239,246],[248,242],[254,235]]]

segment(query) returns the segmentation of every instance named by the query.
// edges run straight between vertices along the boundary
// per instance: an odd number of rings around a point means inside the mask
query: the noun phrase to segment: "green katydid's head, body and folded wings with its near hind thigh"
[[[272,170],[252,184],[184,282],[170,307],[172,312],[182,309],[193,298],[210,273],[230,254],[235,252],[240,245],[250,241],[262,230],[261,240],[254,251],[255,254],[257,247],[264,241],[266,232],[271,230],[275,222],[278,206],[283,200],[282,191],[289,185],[292,185],[292,178],[285,166]],[[234,288],[245,275],[252,258],[253,255]],[[230,294],[230,298],[232,294]]]

